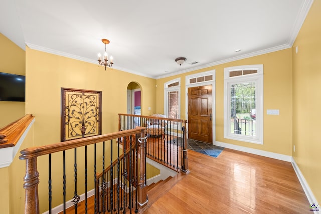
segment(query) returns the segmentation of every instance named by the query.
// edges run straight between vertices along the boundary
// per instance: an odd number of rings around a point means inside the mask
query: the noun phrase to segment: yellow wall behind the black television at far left
[[[25,75],[25,51],[1,33],[0,47],[0,72]],[[25,102],[0,101],[0,128],[24,115]]]

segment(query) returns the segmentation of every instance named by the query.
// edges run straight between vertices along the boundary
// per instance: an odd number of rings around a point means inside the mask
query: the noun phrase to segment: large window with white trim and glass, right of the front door
[[[224,69],[224,138],[263,144],[263,65]]]

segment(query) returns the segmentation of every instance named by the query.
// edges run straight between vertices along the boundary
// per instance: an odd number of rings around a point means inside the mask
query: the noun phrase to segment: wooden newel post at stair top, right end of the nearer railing
[[[146,138],[144,131],[141,132],[141,137],[138,139],[139,142],[139,184],[138,184],[138,204],[140,205],[140,208],[145,206],[148,203],[147,198],[147,189],[145,184],[145,178],[146,178],[146,171],[145,171],[145,165],[146,165]]]

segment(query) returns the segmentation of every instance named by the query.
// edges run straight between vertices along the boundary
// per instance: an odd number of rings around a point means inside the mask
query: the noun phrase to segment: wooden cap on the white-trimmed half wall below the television
[[[15,146],[33,119],[34,116],[26,114],[0,129],[0,148]]]

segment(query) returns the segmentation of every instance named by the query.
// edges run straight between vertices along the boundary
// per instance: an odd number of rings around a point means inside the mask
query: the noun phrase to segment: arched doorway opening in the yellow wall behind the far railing
[[[127,86],[127,114],[141,115],[141,87],[136,82]]]

